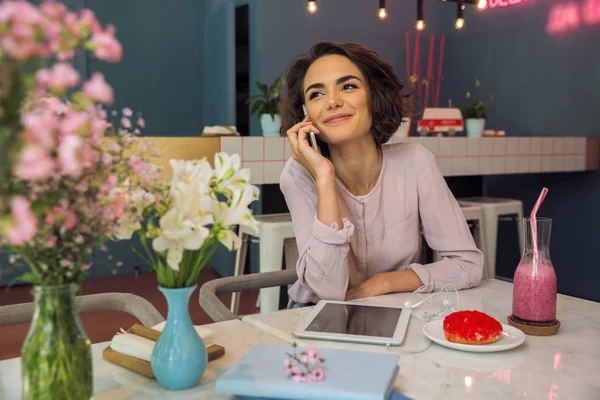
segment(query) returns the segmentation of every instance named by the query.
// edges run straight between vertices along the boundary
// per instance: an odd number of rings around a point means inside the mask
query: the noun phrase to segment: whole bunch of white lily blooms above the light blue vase
[[[135,231],[145,229],[144,210],[150,209],[154,217],[162,215],[158,227],[149,223],[149,235],[140,236],[153,238],[152,247],[161,253],[160,259],[166,255],[166,260],[155,265],[155,269],[166,267],[184,272],[180,270],[180,263],[185,251],[203,251],[202,246],[211,237],[209,227],[218,229],[214,232],[216,239],[230,251],[241,244],[233,231],[235,225],[258,234],[258,222],[252,216],[250,204],[258,199],[259,189],[250,184],[250,170],[241,168],[239,155],[216,154],[214,169],[206,159],[170,160],[169,163],[173,178],[164,203],[156,204],[156,197],[144,191],[130,193],[126,214],[117,232],[119,238],[130,238]],[[198,269],[194,269],[193,273],[197,272]],[[185,278],[186,282],[195,279],[193,276]]]

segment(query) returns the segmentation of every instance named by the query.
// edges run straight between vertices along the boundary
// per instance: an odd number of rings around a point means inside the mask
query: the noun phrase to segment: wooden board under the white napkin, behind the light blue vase
[[[139,324],[133,325],[129,329],[129,332],[155,342],[160,336],[160,331]],[[225,354],[225,348],[216,344],[207,347],[206,350],[208,352],[208,361],[216,360]],[[152,373],[152,367],[150,366],[149,361],[119,353],[111,349],[110,346],[104,349],[102,352],[102,357],[122,367],[154,379],[154,374]]]

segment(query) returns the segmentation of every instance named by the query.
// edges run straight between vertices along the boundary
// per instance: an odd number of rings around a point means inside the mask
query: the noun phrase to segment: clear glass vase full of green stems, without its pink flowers
[[[21,354],[22,397],[93,397],[92,351],[79,319],[77,285],[35,286],[35,313]]]

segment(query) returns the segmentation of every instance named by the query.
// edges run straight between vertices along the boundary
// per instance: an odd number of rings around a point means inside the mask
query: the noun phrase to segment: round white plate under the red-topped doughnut
[[[495,351],[504,351],[520,346],[525,342],[525,334],[515,327],[502,324],[503,334],[500,339],[490,344],[462,344],[454,343],[446,339],[444,335],[444,320],[438,319],[427,323],[423,327],[423,333],[431,341],[451,349],[471,351],[474,353],[492,353]]]

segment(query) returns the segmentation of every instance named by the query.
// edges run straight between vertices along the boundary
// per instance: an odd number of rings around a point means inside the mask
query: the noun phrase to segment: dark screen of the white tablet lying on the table
[[[401,314],[401,308],[327,303],[305,330],[392,338]]]

